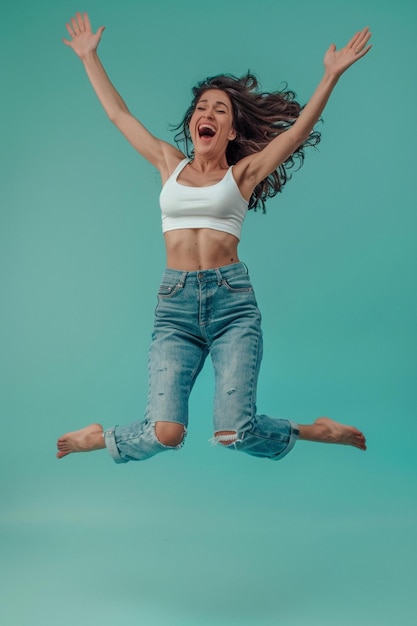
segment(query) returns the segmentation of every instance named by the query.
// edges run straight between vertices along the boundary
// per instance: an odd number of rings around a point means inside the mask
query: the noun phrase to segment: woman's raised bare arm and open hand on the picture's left
[[[154,137],[129,111],[123,98],[113,87],[106,71],[97,56],[104,27],[96,33],[91,30],[87,13],[71,18],[66,24],[71,40],[64,39],[65,45],[72,48],[81,59],[88,78],[109,119],[123,133],[132,146],[154,165],[165,179],[184,158],[182,152],[171,144]]]

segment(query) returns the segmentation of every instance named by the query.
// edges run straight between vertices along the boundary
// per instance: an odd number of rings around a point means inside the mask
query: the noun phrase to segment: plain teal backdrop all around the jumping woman
[[[196,80],[251,69],[300,101],[331,42],[374,47],[241,258],[264,315],[259,409],[364,430],[282,463],[208,444],[209,363],[180,453],[57,461],[141,417],[163,266],[159,179],[61,43],[76,10],[132,112],[172,138]],[[0,621],[5,626],[416,622],[416,5],[412,0],[20,0],[1,45]]]

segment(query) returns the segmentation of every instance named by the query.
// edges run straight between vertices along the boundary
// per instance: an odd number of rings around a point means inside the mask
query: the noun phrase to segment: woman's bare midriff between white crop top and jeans
[[[196,272],[239,261],[234,235],[211,228],[181,228],[165,233],[167,267]]]

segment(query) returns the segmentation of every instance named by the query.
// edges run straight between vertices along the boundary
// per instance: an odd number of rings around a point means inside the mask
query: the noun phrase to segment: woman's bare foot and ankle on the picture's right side
[[[363,433],[353,426],[339,424],[328,417],[319,417],[314,424],[299,426],[300,439],[318,441],[320,443],[339,443],[366,450],[366,440]]]

